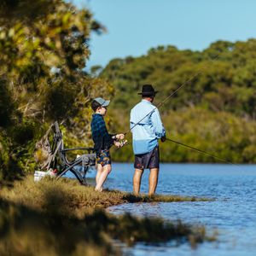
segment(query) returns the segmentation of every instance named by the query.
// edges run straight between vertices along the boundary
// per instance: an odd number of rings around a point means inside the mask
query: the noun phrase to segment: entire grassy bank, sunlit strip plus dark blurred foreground
[[[113,216],[104,211],[124,202],[199,201],[194,197],[135,197],[120,191],[96,193],[72,180],[32,177],[0,190],[1,255],[107,255],[120,254],[113,239],[132,245],[137,241],[198,242],[212,240],[204,227],[160,218]]]

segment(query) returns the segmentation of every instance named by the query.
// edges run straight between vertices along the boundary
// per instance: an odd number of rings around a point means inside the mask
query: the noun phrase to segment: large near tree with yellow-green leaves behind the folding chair
[[[65,121],[67,142],[86,146],[89,136],[83,131],[90,123],[91,98],[113,95],[110,84],[84,72],[90,32],[103,30],[88,9],[66,1],[0,3],[3,178],[14,178],[17,169],[32,171],[35,142],[55,120]],[[76,122],[78,117],[83,120]]]

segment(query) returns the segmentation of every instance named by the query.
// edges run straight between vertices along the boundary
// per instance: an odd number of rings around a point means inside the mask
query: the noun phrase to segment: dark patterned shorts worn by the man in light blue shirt
[[[160,153],[159,147],[156,146],[152,151],[145,154],[136,154],[134,161],[135,169],[153,169],[159,168]]]

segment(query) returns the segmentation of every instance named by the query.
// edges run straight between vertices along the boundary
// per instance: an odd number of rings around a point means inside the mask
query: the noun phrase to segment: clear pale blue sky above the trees
[[[159,45],[201,50],[217,40],[256,38],[255,0],[73,0],[108,32],[93,34],[87,67],[145,55]]]

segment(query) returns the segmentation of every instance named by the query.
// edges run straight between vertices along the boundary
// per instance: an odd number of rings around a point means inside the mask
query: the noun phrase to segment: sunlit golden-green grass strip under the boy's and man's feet
[[[0,190],[0,196],[35,210],[62,212],[66,215],[83,216],[84,212],[96,207],[110,207],[126,202],[173,202],[210,201],[207,198],[180,195],[135,196],[119,190],[96,192],[91,186],[81,186],[76,180],[44,178],[35,183],[32,176],[16,181],[13,187]]]

